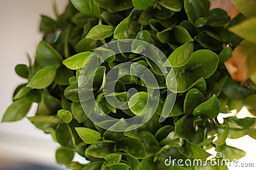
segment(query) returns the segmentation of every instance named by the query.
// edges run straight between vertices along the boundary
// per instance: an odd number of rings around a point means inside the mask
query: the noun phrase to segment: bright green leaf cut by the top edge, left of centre
[[[72,4],[85,15],[100,18],[99,5],[93,0],[71,0]]]

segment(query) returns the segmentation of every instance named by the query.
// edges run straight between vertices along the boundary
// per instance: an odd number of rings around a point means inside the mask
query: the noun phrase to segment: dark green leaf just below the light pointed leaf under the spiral
[[[98,141],[97,143],[90,145],[84,154],[103,159],[109,153],[115,152],[115,150],[116,145],[114,141]]]

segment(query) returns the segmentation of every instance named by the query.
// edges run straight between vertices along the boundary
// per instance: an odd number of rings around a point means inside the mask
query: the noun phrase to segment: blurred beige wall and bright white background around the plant
[[[61,12],[68,0],[55,2]],[[40,15],[53,17],[53,3],[54,0],[0,0],[0,119],[12,103],[15,87],[26,82],[15,74],[14,67],[28,64],[27,53],[35,57],[36,45],[42,39],[38,31]],[[32,109],[29,115],[34,113],[35,109]],[[244,169],[255,169],[255,140],[244,136],[228,139],[227,144],[246,152],[241,162],[254,163],[254,167]],[[58,146],[50,135],[36,129],[26,118],[19,122],[0,123],[0,170],[65,169],[55,160]]]

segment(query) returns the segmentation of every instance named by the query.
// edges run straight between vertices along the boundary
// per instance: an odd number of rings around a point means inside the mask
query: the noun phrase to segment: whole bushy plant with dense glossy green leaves
[[[56,20],[42,16],[35,60],[15,67],[28,83],[2,122],[38,103],[28,119],[60,143],[56,160],[70,169],[227,169],[204,164],[205,150],[232,161],[245,153],[226,138],[256,138],[255,118],[217,119],[243,106],[256,115],[256,42],[244,32],[256,4],[232,2],[241,13],[230,19],[208,0],[71,0]],[[250,68],[243,80],[230,69],[237,49]],[[75,152],[90,163],[72,162]]]

